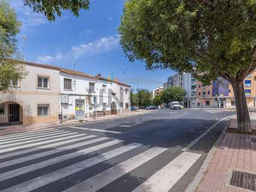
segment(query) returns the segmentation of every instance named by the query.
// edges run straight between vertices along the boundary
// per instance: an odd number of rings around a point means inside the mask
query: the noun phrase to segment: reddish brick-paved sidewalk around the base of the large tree
[[[254,114],[251,114],[255,126]],[[237,128],[236,116],[231,119],[230,128]],[[216,149],[206,175],[200,182],[198,192],[256,191],[256,176],[234,175],[233,170],[256,174],[256,136],[226,133]],[[240,174],[240,173],[239,173]],[[232,177],[233,176],[233,177]],[[235,187],[231,182],[239,185]],[[247,187],[245,189],[243,187]]]

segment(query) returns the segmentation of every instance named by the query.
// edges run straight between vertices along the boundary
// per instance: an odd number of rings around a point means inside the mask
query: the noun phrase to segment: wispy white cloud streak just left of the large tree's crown
[[[85,55],[108,52],[109,50],[115,49],[119,41],[119,35],[113,35],[100,38],[99,40],[87,44],[80,44],[79,46],[72,47],[73,56],[75,56],[75,59],[78,59]]]

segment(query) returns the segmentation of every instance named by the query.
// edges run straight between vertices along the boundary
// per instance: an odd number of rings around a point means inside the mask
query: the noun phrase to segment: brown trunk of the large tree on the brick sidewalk
[[[251,120],[245,97],[245,88],[242,81],[232,82],[234,97],[236,100],[237,128],[239,133],[251,133]]]

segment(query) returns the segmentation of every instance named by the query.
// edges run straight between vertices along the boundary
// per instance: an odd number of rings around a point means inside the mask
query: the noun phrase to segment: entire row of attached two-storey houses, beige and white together
[[[130,86],[53,65],[17,61],[28,76],[0,94],[0,126],[79,119],[130,110]]]

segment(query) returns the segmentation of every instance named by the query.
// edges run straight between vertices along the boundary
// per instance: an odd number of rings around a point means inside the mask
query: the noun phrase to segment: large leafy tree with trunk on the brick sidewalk
[[[251,132],[243,80],[256,68],[256,1],[127,0],[119,28],[130,61],[231,83],[240,132]]]

